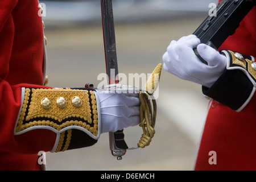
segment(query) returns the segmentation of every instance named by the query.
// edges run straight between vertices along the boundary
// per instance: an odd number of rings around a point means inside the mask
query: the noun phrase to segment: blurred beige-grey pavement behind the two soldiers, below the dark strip
[[[170,21],[116,24],[118,68],[121,73],[151,73],[171,40],[192,34],[205,16]],[[101,26],[47,28],[48,77],[52,87],[98,85],[105,73]],[[150,146],[127,151],[118,161],[109,150],[108,134],[92,147],[47,152],[48,170],[192,170],[208,101],[200,85],[180,80],[163,70],[159,84],[156,134]],[[133,147],[139,126],[125,129]]]

